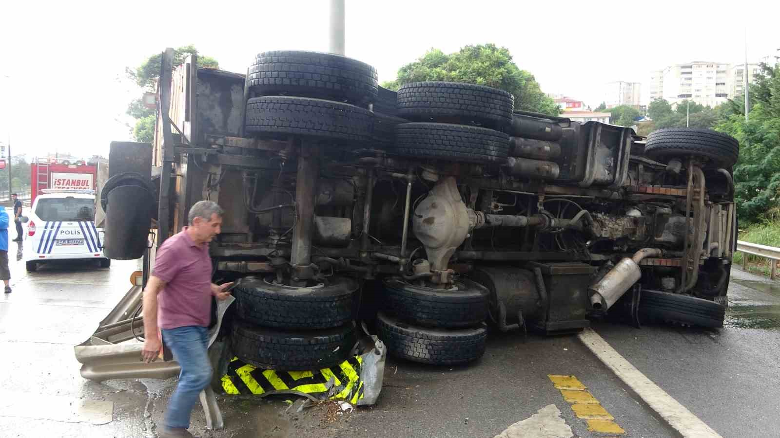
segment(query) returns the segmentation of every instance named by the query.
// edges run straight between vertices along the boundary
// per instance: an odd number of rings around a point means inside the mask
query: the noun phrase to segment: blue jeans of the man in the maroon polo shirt
[[[211,382],[211,362],[207,355],[208,330],[198,326],[162,329],[162,340],[173,352],[173,359],[182,367],[179,385],[168,401],[165,427],[187,429],[198,394]]]

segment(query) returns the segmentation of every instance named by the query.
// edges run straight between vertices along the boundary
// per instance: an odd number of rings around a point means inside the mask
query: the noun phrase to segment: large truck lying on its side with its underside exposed
[[[154,145],[115,143],[105,253],[144,256],[199,200],[225,209],[222,336],[266,369],[345,359],[355,320],[436,365],[488,324],[545,334],[623,313],[721,327],[736,244],[734,139],[515,111],[464,83],[378,87],[340,55],[268,51],[246,76],[163,57]],[[228,353],[226,353],[228,354]]]

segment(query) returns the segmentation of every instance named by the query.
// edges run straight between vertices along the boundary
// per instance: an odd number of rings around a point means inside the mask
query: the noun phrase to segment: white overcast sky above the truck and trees
[[[545,93],[596,106],[612,80],[691,60],[754,62],[780,48],[780,2],[458,2],[346,0],[346,55],[380,80],[428,48],[495,43]],[[750,21],[746,21],[749,19]],[[108,154],[130,140],[125,78],[165,47],[194,44],[222,69],[246,72],[257,52],[328,50],[328,0],[290,2],[4,2],[0,14],[0,142],[14,154]]]

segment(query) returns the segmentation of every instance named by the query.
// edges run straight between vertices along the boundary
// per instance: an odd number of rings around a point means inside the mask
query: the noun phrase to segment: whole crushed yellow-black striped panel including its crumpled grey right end
[[[376,403],[385,374],[387,348],[375,335],[367,334],[352,356],[338,366],[310,371],[260,369],[234,357],[222,376],[225,394],[296,394],[313,401],[335,400],[351,404]]]

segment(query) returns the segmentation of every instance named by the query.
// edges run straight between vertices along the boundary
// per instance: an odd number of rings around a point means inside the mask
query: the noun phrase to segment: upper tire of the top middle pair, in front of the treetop
[[[418,122],[478,124],[503,129],[515,97],[504,90],[456,82],[407,83],[398,90],[398,114]]]

